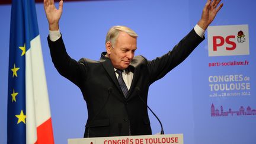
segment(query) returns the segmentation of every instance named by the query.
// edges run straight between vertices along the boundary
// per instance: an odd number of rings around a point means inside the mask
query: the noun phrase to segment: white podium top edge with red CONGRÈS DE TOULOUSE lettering
[[[183,144],[183,134],[68,139],[68,144]]]

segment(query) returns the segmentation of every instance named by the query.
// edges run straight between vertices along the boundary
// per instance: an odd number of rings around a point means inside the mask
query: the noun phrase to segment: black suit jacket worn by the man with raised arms
[[[148,110],[143,103],[147,103],[149,86],[183,62],[202,40],[193,29],[161,57],[147,60],[143,56],[135,56],[129,66],[134,73],[132,85],[127,98],[124,98],[105,52],[98,61],[82,58],[77,62],[66,53],[62,37],[54,42],[48,37],[57,71],[81,89],[87,103],[84,137],[151,135]]]

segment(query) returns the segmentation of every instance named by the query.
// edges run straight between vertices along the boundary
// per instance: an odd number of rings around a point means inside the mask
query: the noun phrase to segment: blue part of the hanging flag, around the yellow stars
[[[36,7],[33,0],[13,0],[11,9],[11,30],[9,40],[9,76],[8,76],[8,116],[7,143],[25,143],[25,123],[18,122],[15,115],[25,113],[25,55],[21,56],[25,43],[26,52],[30,49],[30,41],[39,35]],[[11,69],[20,68],[17,76]],[[13,91],[18,92],[12,100]]]

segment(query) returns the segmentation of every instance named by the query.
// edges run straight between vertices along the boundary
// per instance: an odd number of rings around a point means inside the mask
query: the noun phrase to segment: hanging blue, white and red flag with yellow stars
[[[8,72],[7,143],[54,143],[33,0],[12,1]]]

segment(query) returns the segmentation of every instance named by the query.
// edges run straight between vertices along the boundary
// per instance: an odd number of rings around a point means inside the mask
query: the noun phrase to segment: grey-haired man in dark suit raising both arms
[[[151,135],[146,106],[149,86],[183,62],[204,40],[204,30],[223,5],[217,7],[219,2],[207,1],[199,23],[162,57],[147,60],[134,56],[137,34],[128,27],[114,26],[107,33],[107,52],[100,60],[82,58],[76,62],[66,53],[59,32],[63,1],[56,9],[53,0],[44,0],[52,61],[62,76],[81,89],[87,103],[84,137]]]

